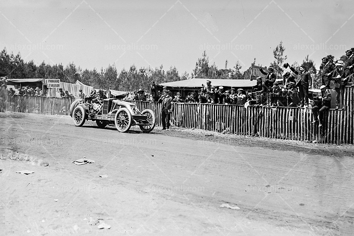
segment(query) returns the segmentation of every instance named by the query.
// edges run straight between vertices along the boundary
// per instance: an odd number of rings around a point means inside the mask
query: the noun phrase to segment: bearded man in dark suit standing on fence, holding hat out
[[[296,86],[299,87],[300,93],[300,107],[309,106],[309,86],[312,86],[312,77],[308,71],[306,71],[305,65],[302,65],[297,71],[295,68],[291,67],[289,63],[286,63],[290,70],[298,75],[296,80]]]

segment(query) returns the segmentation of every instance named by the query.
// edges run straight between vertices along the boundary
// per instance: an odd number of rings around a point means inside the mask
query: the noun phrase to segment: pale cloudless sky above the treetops
[[[115,63],[190,73],[206,50],[211,63],[242,71],[269,66],[280,41],[288,62],[336,58],[354,47],[352,0],[318,1],[1,1],[1,46],[25,61]]]

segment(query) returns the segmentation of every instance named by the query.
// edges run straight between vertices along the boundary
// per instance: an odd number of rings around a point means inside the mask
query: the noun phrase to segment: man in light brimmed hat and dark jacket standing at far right
[[[334,80],[334,87],[336,90],[336,109],[342,109],[341,100],[344,99],[344,89],[348,83],[349,74],[343,67],[343,61],[339,60],[336,63],[336,69],[333,71],[332,80]]]

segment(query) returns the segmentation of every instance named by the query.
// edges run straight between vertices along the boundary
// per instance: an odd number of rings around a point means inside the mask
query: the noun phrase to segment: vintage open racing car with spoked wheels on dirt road
[[[97,99],[95,103],[76,100],[70,105],[70,116],[75,126],[82,126],[86,120],[91,120],[96,121],[100,128],[115,125],[119,132],[127,132],[132,125],[138,125],[144,133],[148,133],[156,123],[152,110],[140,112],[134,104],[116,98]]]

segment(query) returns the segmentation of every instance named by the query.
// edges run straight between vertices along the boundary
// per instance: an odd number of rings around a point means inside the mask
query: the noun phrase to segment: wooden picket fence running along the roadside
[[[43,115],[68,115],[76,98],[7,96],[0,88],[0,111]],[[139,110],[151,109],[161,125],[161,105],[157,102],[132,101]],[[312,141],[329,144],[353,144],[354,88],[344,94],[346,109],[331,109],[324,125],[312,124],[311,109],[286,107],[247,107],[223,104],[176,103],[171,125],[208,131],[276,139]]]

